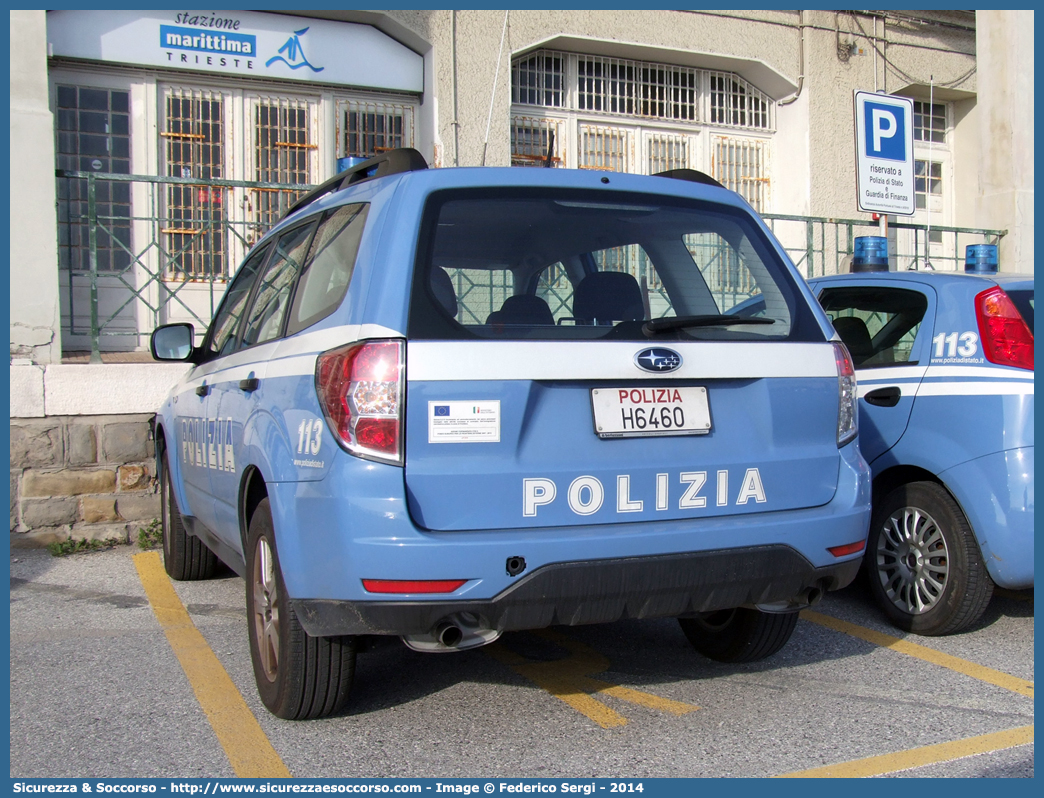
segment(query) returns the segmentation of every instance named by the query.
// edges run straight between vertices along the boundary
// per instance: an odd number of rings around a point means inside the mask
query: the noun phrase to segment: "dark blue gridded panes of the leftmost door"
[[[58,86],[54,103],[57,168],[130,173],[130,94],[126,91]],[[130,265],[130,186],[95,183],[95,252],[99,272]],[[58,267],[91,268],[87,181],[58,179]]]

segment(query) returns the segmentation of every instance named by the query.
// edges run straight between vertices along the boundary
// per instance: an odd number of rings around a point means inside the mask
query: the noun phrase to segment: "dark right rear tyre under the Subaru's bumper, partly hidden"
[[[790,639],[797,612],[761,612],[746,607],[703,612],[678,623],[692,648],[718,662],[756,662]]]

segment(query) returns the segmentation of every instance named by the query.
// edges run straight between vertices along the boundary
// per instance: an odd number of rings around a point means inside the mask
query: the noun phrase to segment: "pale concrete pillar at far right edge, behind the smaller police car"
[[[1001,268],[1034,271],[1034,13],[975,13],[979,81],[976,217],[1006,228]]]

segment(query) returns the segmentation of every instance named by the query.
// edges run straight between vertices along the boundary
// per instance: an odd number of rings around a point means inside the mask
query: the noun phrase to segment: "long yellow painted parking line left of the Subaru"
[[[174,592],[157,551],[135,555],[149,604],[196,700],[240,778],[290,778],[246,702]]]

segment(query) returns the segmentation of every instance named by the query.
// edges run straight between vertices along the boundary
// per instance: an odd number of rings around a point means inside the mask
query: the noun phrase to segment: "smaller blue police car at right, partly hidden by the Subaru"
[[[926,635],[1034,584],[1034,279],[972,261],[809,281],[859,382],[871,590]]]

